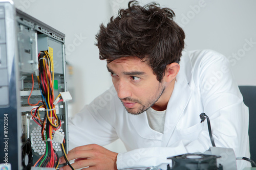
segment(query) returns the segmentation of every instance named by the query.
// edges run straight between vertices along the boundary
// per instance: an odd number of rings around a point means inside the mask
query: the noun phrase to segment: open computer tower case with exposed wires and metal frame
[[[45,77],[44,71],[48,71]],[[49,120],[58,117],[52,124],[59,126],[55,130],[62,134],[60,140],[65,141],[67,151],[68,109],[59,95],[67,91],[66,84],[65,34],[15,9],[12,1],[0,0],[0,167],[31,169],[45,154],[46,142],[62,156],[61,144],[52,136],[42,139],[42,133],[48,133],[42,131],[47,126],[43,123],[46,116]],[[48,99],[42,97],[49,92],[44,86],[52,92]],[[58,101],[53,101],[52,95],[59,96]],[[49,99],[54,106],[41,106],[40,101]],[[46,112],[52,112],[51,117]],[[55,132],[54,127],[51,130]]]

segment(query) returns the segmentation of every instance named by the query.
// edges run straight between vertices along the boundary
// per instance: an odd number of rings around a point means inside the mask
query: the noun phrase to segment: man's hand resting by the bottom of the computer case
[[[74,169],[84,168],[86,170],[116,170],[116,158],[118,153],[109,151],[97,144],[88,144],[76,147],[67,154],[68,160],[75,159],[72,163]],[[59,159],[59,164],[65,163],[63,156]],[[69,165],[60,167],[59,170],[70,170]]]

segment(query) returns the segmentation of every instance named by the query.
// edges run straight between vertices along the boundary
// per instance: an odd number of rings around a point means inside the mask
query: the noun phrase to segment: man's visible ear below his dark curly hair
[[[164,75],[165,82],[171,82],[174,80],[180,70],[180,64],[178,63],[171,63],[166,65],[166,72]]]

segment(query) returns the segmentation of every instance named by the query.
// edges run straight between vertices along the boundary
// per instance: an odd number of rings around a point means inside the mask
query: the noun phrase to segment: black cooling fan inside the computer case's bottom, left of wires
[[[31,140],[28,138],[22,146],[22,165],[23,170],[30,170],[33,165]]]

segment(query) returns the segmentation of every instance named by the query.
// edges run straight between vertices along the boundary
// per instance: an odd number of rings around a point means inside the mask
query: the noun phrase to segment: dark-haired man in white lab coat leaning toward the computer
[[[174,16],[168,8],[133,1],[106,27],[100,26],[96,45],[115,90],[70,118],[74,149],[67,157],[76,159],[75,169],[166,169],[171,163],[167,157],[203,153],[212,145],[206,121],[200,123],[202,112],[210,117],[217,147],[249,157],[248,109],[228,60],[207,50],[182,55],[185,34]],[[100,146],[118,138],[126,153]],[[246,165],[240,161],[238,168]]]

